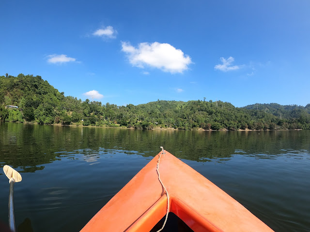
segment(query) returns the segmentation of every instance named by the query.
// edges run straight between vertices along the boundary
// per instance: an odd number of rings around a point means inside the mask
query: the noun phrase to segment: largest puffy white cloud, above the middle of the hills
[[[183,73],[192,63],[188,55],[169,43],[140,43],[137,48],[122,42],[122,51],[128,55],[129,62],[136,67],[150,66],[164,72]]]

